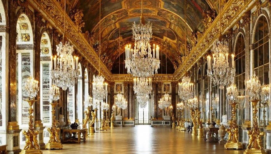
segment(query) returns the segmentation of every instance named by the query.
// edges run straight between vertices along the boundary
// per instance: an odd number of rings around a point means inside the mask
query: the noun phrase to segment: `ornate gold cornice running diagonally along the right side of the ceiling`
[[[242,18],[240,15],[242,12],[251,9],[252,6],[255,6],[253,0],[229,0],[221,11],[222,19],[222,33],[229,29],[233,22]],[[174,73],[179,80],[181,76],[184,75],[184,72],[192,67],[211,47],[215,39],[219,35],[219,14],[214,19],[212,24],[205,29],[204,34],[201,39],[198,40],[198,43],[195,47],[192,48],[192,51],[187,57],[186,64],[183,63],[180,65],[179,69]]]

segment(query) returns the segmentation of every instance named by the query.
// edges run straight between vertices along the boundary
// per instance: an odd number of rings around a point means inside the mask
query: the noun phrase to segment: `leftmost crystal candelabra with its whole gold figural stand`
[[[25,99],[25,101],[28,102],[29,104],[29,123],[28,123],[28,131],[23,131],[23,135],[25,136],[25,146],[23,150],[20,152],[20,154],[32,154],[32,153],[42,153],[40,150],[40,146],[38,144],[37,140],[37,135],[39,134],[39,131],[34,131],[34,126],[33,126],[33,103],[36,102],[37,100],[33,99],[36,97],[37,92],[39,91],[39,86],[38,86],[38,81],[34,80],[32,76],[28,77],[27,81],[25,82],[24,85],[24,93],[25,96],[28,99]]]

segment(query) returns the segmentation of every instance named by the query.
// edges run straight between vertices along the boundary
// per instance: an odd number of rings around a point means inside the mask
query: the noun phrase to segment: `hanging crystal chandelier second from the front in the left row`
[[[92,83],[92,96],[95,100],[103,100],[108,94],[107,91],[108,83],[104,83],[104,77],[101,75],[93,75],[93,83]]]

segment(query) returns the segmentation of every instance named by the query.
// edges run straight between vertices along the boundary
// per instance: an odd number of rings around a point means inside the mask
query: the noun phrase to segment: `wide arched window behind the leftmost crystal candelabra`
[[[28,127],[28,102],[23,94],[23,83],[30,75],[33,75],[33,33],[30,20],[27,15],[21,14],[16,25],[16,86],[17,86],[17,121],[19,125]]]

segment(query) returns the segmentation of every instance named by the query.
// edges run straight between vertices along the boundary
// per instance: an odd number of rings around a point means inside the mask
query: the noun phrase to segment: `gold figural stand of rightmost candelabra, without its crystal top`
[[[259,154],[259,153],[266,153],[262,147],[262,140],[261,137],[265,134],[265,132],[260,132],[258,127],[258,116],[257,116],[257,103],[260,101],[259,99],[252,99],[249,100],[252,103],[252,128],[251,131],[248,131],[249,135],[249,142],[248,147],[244,151],[244,154]]]

